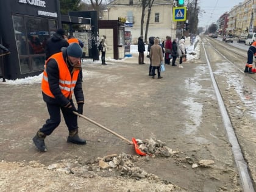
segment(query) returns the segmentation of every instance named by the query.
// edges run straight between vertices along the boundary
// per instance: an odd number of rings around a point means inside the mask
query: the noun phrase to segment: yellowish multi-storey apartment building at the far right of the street
[[[226,32],[233,36],[256,32],[256,0],[245,0],[229,12]]]

